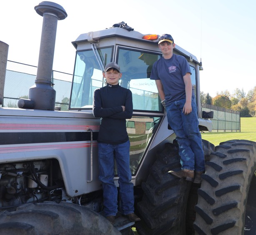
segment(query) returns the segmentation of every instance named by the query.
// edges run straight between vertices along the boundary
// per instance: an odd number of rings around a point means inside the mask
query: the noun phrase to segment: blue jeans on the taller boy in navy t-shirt
[[[166,106],[168,123],[176,134],[181,156],[181,169],[204,171],[204,153],[195,98],[192,98],[192,112],[182,113],[186,99],[173,101]]]

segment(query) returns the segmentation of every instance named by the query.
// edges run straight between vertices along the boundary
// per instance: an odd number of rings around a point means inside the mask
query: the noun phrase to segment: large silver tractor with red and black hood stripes
[[[206,171],[199,185],[168,174],[181,164],[176,135],[150,80],[152,65],[162,56],[159,35],[141,34],[125,22],[80,34],[72,42],[75,66],[69,110],[63,111],[55,107],[52,69],[57,22],[67,13],[48,1],[35,11],[43,17],[35,85],[18,108],[0,108],[0,233],[128,235],[135,227],[140,235],[255,234],[255,142],[229,140],[214,146],[202,140]],[[7,47],[0,43],[0,91]],[[202,63],[178,45],[174,53],[191,68],[199,129],[212,131],[211,113],[201,112]],[[141,218],[134,223],[118,214],[113,225],[102,214],[100,119],[92,110],[93,92],[105,86],[102,72],[112,61],[123,74],[120,86],[133,94],[133,116],[126,127],[134,206]],[[116,170],[114,181],[118,186]]]

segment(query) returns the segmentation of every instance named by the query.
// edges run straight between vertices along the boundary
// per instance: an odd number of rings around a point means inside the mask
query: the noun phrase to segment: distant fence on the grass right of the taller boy
[[[240,132],[240,112],[214,105],[201,104],[202,111],[213,111],[213,130],[224,132]]]

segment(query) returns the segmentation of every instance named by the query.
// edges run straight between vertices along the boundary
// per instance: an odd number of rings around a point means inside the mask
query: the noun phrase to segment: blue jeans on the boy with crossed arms
[[[114,159],[117,164],[118,184],[121,198],[121,213],[134,212],[133,183],[130,170],[130,142],[122,144],[98,143],[99,180],[103,187],[103,205],[106,216],[118,212],[118,191],[114,183]]]

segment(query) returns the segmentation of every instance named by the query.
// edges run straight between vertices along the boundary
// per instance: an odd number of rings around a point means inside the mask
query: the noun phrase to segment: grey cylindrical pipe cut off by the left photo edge
[[[5,74],[9,45],[0,41],[0,105],[3,105]]]

